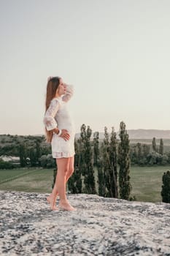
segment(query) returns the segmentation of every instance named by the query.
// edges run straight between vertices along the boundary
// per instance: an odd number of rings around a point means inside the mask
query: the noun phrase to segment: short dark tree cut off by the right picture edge
[[[167,170],[166,173],[163,173],[162,177],[163,185],[162,185],[162,201],[163,203],[170,203],[170,171]]]

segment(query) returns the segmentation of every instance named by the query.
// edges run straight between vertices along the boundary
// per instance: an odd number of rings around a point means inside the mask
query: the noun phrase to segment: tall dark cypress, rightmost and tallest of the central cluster
[[[128,133],[125,129],[125,123],[120,122],[120,143],[118,146],[118,164],[120,165],[119,170],[119,192],[120,198],[129,200],[131,194],[131,183],[130,183],[130,157],[129,157],[129,139]]]

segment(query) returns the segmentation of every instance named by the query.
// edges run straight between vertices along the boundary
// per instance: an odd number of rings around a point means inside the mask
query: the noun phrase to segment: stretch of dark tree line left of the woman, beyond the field
[[[0,156],[18,157],[19,162],[0,159],[0,169],[14,167],[55,167],[45,136],[0,135]]]

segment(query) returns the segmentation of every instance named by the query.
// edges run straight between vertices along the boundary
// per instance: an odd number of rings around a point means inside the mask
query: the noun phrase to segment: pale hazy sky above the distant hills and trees
[[[0,0],[0,134],[42,135],[47,78],[76,132],[170,129],[169,0]]]

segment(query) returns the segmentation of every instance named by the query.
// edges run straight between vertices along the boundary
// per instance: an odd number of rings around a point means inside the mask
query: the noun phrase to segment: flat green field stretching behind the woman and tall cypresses
[[[161,201],[162,176],[169,167],[131,167],[132,196],[145,202]],[[51,192],[53,169],[0,170],[0,190]]]

